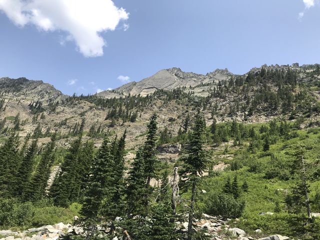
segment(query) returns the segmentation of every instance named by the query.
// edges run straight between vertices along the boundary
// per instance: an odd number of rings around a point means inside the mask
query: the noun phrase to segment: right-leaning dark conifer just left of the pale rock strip
[[[51,136],[51,141],[48,142],[41,154],[41,159],[36,167],[35,173],[32,175],[27,184],[27,188],[23,193],[24,200],[38,201],[45,196],[45,188],[50,176],[50,167],[54,160],[54,146],[56,133]]]

